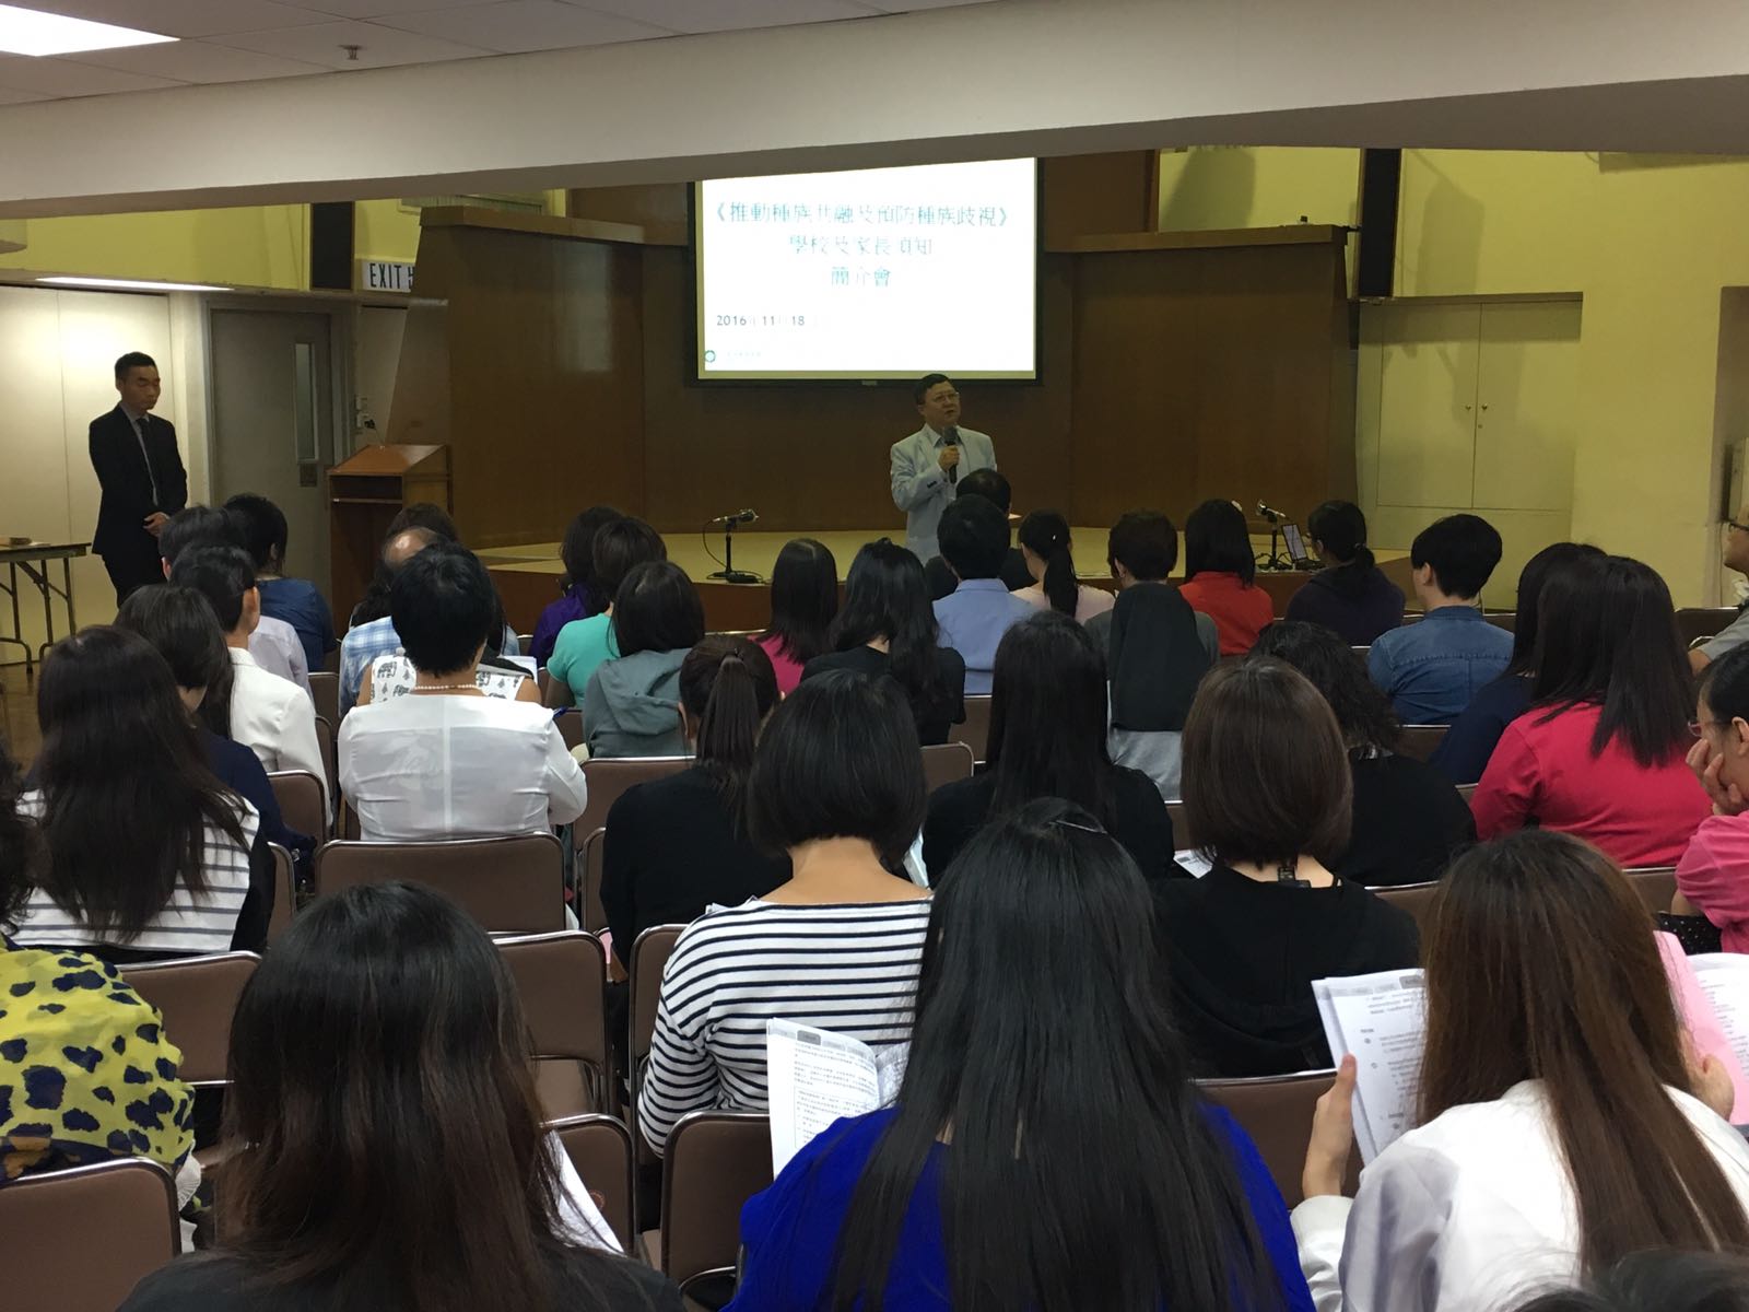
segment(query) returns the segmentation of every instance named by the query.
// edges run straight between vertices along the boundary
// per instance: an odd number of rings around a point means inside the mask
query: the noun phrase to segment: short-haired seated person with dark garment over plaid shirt
[[[1219,659],[1214,621],[1167,583],[1179,532],[1158,511],[1130,511],[1111,530],[1118,604],[1088,621],[1111,677],[1111,759],[1154,780],[1161,798],[1182,792],[1184,717],[1198,680]]]

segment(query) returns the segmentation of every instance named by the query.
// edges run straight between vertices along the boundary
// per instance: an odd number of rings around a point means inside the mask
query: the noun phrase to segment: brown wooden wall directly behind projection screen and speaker
[[[691,261],[644,250],[645,514],[663,532],[752,506],[761,528],[902,528],[887,450],[920,425],[909,385],[693,381]],[[1067,511],[1072,483],[1070,266],[1044,261],[1037,385],[965,383],[965,427],[995,439],[1014,506]]]

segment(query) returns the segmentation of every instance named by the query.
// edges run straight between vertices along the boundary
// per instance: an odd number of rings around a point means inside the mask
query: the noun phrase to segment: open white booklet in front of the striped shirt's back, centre
[[[766,1085],[771,1102],[771,1174],[841,1116],[890,1106],[904,1081],[909,1046],[876,1051],[843,1034],[766,1022]]]

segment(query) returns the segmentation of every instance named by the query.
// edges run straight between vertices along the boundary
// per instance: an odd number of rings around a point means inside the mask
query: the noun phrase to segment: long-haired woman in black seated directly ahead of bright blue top
[[[929,798],[923,864],[932,887],[986,820],[1037,798],[1063,798],[1098,817],[1149,880],[1182,876],[1154,782],[1105,752],[1105,661],[1069,616],[1037,614],[997,647],[985,759],[983,773]]]

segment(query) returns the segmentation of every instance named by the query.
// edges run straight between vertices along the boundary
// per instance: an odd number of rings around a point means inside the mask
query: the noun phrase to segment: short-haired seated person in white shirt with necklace
[[[553,714],[479,687],[497,609],[474,553],[427,548],[395,574],[388,597],[415,682],[341,721],[339,785],[360,838],[546,833],[582,815],[582,770]]]

